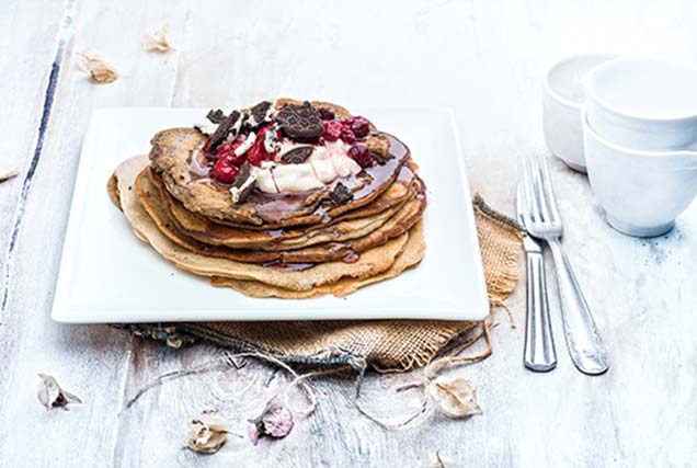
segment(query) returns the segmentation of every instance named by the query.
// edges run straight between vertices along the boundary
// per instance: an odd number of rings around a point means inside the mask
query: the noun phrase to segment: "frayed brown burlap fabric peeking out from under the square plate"
[[[518,259],[521,251],[521,226],[512,218],[491,208],[479,194],[475,194],[475,216],[477,218],[477,231],[484,264],[487,289],[491,310],[505,307],[505,299],[514,290],[518,279]],[[510,315],[511,317],[511,315]],[[512,323],[513,323],[513,319]],[[361,350],[356,344],[356,336],[346,342],[332,343],[329,346],[313,347],[308,343],[290,343],[286,339],[274,342],[254,328],[254,322],[225,322],[225,323],[137,323],[119,324],[135,334],[152,338],[167,343],[171,347],[181,347],[196,341],[205,341],[226,349],[237,351],[263,352],[275,356],[286,363],[296,363],[319,367],[334,367],[350,365],[364,372],[372,367],[380,373],[405,372],[414,367],[423,367],[435,357],[452,353],[459,353],[468,346],[462,343],[473,344],[472,330],[489,327],[489,322],[457,322],[457,321],[347,321],[327,322],[336,328],[336,334],[341,334],[341,323],[346,328],[361,329],[357,333],[370,334],[375,338],[391,336],[390,340],[378,342],[375,347]],[[278,322],[276,322],[278,323]],[[298,322],[288,322],[295,326]],[[302,322],[308,326],[312,322]],[[317,323],[317,322],[315,322]],[[333,323],[333,326],[332,326]],[[256,323],[259,326],[259,323]],[[271,326],[265,326],[268,329]],[[224,330],[225,332],[221,332]],[[330,328],[333,330],[333,328]],[[320,330],[321,340],[331,332]],[[422,335],[423,339],[409,340]],[[412,343],[404,345],[402,339]],[[312,339],[309,339],[312,341]],[[469,341],[468,341],[469,340]],[[331,340],[329,340],[331,341]],[[357,340],[358,342],[363,340]],[[319,344],[319,343],[318,343]],[[399,349],[400,351],[395,351]],[[449,351],[448,351],[449,350]],[[457,351],[454,351],[457,350]]]

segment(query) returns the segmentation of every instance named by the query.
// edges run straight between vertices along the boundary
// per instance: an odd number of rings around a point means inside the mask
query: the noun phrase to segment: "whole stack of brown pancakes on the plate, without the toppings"
[[[273,105],[288,103],[297,102]],[[345,296],[421,261],[425,185],[393,136],[372,126],[367,145],[384,153],[357,174],[307,192],[256,187],[237,202],[205,170],[209,141],[194,127],[160,132],[150,153],[124,161],[108,183],[134,232],[178,267],[253,297],[307,298]]]

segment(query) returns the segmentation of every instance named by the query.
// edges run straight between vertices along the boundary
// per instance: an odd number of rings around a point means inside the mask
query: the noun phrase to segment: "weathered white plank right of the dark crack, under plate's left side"
[[[175,53],[148,54],[141,42],[169,15],[183,19],[183,11],[138,1],[117,8],[101,2],[76,7],[73,36],[58,64],[53,112],[10,258],[5,323],[0,328],[2,362],[14,363],[2,379],[8,399],[0,416],[0,459],[7,466],[103,466],[113,456],[132,339],[107,327],[58,326],[48,312],[91,111],[106,105],[169,105],[176,77]],[[31,24],[31,16],[22,24]],[[178,24],[172,21],[171,26]],[[31,46],[23,49],[31,52]],[[76,67],[77,53],[102,55],[123,78],[108,85],[92,84]],[[45,66],[50,69],[50,60]],[[69,413],[46,413],[36,406],[38,372],[54,374],[85,404]],[[37,427],[49,435],[36,438]],[[33,441],[31,450],[15,448],[18,441],[27,440]]]

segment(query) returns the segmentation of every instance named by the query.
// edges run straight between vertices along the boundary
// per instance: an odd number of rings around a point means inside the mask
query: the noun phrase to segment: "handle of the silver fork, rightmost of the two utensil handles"
[[[561,243],[558,239],[548,239],[548,243],[557,270],[561,317],[571,361],[584,374],[603,374],[607,370],[607,355],[591,309]]]

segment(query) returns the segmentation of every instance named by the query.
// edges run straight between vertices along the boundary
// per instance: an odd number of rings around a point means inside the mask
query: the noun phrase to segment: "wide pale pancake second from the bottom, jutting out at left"
[[[254,281],[290,290],[310,290],[342,278],[364,279],[386,272],[407,246],[409,233],[404,232],[380,247],[364,252],[354,263],[327,262],[302,271],[261,266],[194,253],[162,233],[133,190],[136,178],[147,164],[147,157],[135,157],[124,161],[115,171],[124,214],[139,237],[146,239],[161,256],[190,273]]]

